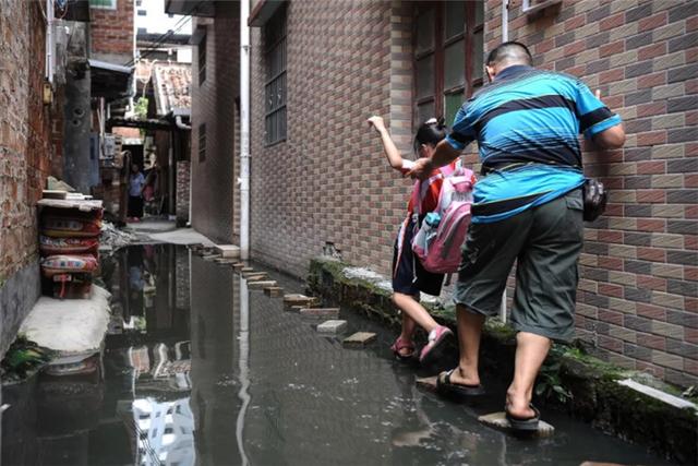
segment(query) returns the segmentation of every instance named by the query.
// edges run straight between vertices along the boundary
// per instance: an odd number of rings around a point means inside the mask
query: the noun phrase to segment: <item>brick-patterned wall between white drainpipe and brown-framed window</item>
[[[409,24],[400,22],[409,15],[400,16],[402,10],[399,3],[371,1],[288,4],[288,136],[270,147],[264,146],[264,85],[258,84],[265,82],[261,31],[253,29],[255,259],[303,276],[309,259],[332,241],[348,261],[389,270],[409,182],[387,166],[365,119],[372,113],[389,119],[398,108],[393,101],[409,107],[411,61],[401,56]],[[396,134],[407,148],[411,117],[401,115]]]

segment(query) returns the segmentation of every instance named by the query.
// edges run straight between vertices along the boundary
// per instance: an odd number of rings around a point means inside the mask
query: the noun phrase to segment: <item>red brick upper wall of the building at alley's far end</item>
[[[92,58],[125,64],[133,59],[133,0],[117,0],[117,9],[93,8],[91,14]]]

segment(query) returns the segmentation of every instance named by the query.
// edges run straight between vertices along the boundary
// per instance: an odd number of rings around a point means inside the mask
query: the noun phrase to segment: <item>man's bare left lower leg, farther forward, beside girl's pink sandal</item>
[[[457,371],[450,375],[450,383],[460,385],[479,385],[480,372],[478,361],[480,356],[480,335],[484,324],[484,315],[470,312],[465,306],[456,308],[458,321],[458,346],[460,360]]]

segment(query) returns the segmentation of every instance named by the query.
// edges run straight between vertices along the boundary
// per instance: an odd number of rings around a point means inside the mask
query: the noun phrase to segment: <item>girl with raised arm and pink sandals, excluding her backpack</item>
[[[369,118],[368,122],[380,134],[390,167],[402,175],[407,174],[413,163],[402,159],[385,128],[383,118],[374,116]],[[417,155],[431,157],[434,147],[446,134],[447,128],[443,119],[437,121],[432,118],[424,122],[414,136]],[[455,164],[456,162],[452,164],[452,168],[455,168]],[[429,333],[429,340],[419,355],[422,365],[433,361],[446,338],[453,335],[448,327],[438,325],[419,302],[420,291],[434,296],[441,294],[444,275],[426,272],[412,253],[413,232],[421,226],[424,216],[437,207],[442,184],[443,176],[440,170],[434,170],[428,180],[414,183],[414,191],[407,207],[407,218],[395,241],[393,254],[393,302],[402,311],[402,332],[390,349],[400,360],[413,358],[417,351],[412,338],[419,325]]]

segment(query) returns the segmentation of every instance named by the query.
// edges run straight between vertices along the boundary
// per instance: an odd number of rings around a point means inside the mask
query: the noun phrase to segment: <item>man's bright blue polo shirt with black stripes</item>
[[[478,141],[489,175],[476,183],[473,223],[498,222],[580,187],[578,134],[621,123],[574,76],[526,65],[502,70],[456,113],[446,139],[456,150]]]

